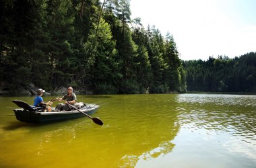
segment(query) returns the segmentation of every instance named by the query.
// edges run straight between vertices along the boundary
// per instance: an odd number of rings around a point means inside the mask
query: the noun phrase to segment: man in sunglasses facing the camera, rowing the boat
[[[71,108],[67,105],[67,103],[70,103],[71,105],[74,105],[76,102],[76,95],[73,93],[73,88],[72,87],[67,87],[67,94],[64,95],[62,98],[58,99],[59,101],[65,100],[65,104],[59,103],[57,104],[55,108],[55,112],[59,111],[69,111]]]

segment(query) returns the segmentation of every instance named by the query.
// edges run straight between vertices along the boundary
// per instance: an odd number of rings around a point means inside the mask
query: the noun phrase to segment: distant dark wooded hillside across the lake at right
[[[183,61],[187,91],[256,93],[256,52]]]

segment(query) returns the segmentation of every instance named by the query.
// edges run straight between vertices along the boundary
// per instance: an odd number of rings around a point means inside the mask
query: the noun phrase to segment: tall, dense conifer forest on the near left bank
[[[29,83],[104,94],[185,92],[172,35],[131,20],[129,0],[101,7],[98,0],[0,1],[1,85],[13,94]]]

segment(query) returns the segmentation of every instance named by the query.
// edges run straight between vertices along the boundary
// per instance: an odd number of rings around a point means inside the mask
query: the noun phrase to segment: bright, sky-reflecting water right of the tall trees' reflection
[[[172,149],[165,153],[159,145],[135,167],[255,166],[255,95],[183,94],[175,100],[179,132],[168,141]]]

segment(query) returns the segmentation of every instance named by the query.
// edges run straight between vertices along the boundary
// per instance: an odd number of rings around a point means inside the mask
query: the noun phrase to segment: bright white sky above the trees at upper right
[[[182,60],[256,52],[256,0],[131,0],[131,19],[173,35]]]

